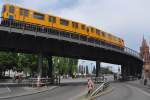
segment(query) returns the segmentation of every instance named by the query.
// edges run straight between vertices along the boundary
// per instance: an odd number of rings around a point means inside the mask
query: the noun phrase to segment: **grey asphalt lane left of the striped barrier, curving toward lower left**
[[[85,84],[69,84],[58,87],[52,91],[46,91],[38,94],[8,98],[4,100],[73,100],[82,93],[86,92]],[[1,100],[1,99],[0,99]]]

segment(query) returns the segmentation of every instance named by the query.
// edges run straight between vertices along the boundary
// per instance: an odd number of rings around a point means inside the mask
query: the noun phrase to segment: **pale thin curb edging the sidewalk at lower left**
[[[33,95],[33,94],[38,94],[38,93],[42,93],[42,92],[46,92],[49,90],[54,90],[56,88],[58,88],[59,86],[54,86],[50,89],[46,89],[46,90],[42,90],[42,91],[36,91],[36,92],[32,92],[32,93],[22,93],[22,94],[18,94],[18,95],[12,95],[12,96],[4,96],[4,97],[0,97],[0,99],[9,99],[9,98],[16,98],[16,97],[21,97],[21,96],[27,96],[27,95]]]

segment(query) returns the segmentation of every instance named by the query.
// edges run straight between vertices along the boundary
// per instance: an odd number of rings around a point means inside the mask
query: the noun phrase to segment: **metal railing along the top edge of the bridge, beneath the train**
[[[24,21],[17,21],[17,20],[10,20],[10,19],[4,19],[2,17],[0,17],[0,26],[5,26],[5,27],[9,27],[10,30],[11,28],[17,28],[17,29],[22,29],[22,30],[29,30],[29,31],[34,31],[34,32],[40,32],[40,33],[45,33],[45,34],[49,34],[49,35],[55,35],[59,38],[69,38],[72,40],[77,40],[77,41],[82,41],[82,42],[86,42],[87,44],[91,44],[92,46],[98,46],[98,47],[103,47],[103,48],[107,48],[107,49],[111,49],[111,50],[115,50],[115,51],[119,51],[119,52],[124,52],[126,54],[135,56],[139,59],[141,59],[140,55],[138,52],[128,48],[128,47],[124,47],[124,50],[122,50],[121,48],[116,48],[112,45],[108,45],[102,41],[97,42],[96,40],[92,40],[89,37],[85,37],[85,36],[81,36],[81,35],[77,35],[77,34],[72,34],[71,32],[66,32],[66,31],[60,31],[59,29],[56,29],[54,27],[47,27],[47,26],[41,26],[38,24],[33,24],[33,23],[27,23]]]

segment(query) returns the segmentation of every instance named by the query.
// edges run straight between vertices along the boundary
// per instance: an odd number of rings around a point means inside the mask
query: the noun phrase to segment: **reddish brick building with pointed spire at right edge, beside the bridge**
[[[140,47],[140,56],[144,60],[143,75],[144,78],[150,78],[150,51],[146,39],[143,37],[142,45]]]

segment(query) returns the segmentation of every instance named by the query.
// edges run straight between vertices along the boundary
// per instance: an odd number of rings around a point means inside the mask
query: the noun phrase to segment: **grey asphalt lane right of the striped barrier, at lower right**
[[[96,100],[150,100],[150,93],[128,83],[112,83],[113,91]]]

